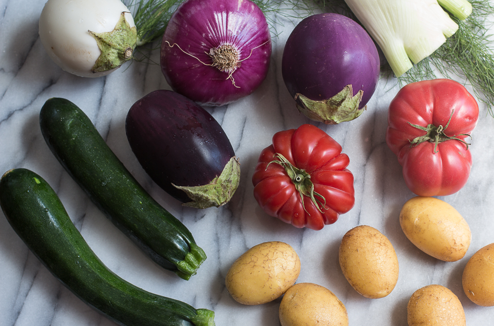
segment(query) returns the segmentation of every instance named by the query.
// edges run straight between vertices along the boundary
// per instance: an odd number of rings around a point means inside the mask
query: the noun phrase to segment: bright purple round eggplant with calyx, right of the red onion
[[[327,124],[362,114],[376,88],[379,69],[379,54],[369,34],[336,13],[303,19],[283,51],[283,80],[297,108]]]

